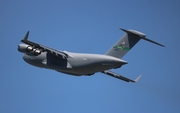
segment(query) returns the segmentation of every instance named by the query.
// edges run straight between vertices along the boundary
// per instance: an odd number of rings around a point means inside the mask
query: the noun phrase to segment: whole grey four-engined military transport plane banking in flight
[[[122,57],[140,40],[146,40],[163,46],[155,41],[146,38],[144,33],[136,30],[125,30],[125,35],[119,39],[106,54],[85,54],[56,50],[36,42],[28,40],[29,31],[21,40],[24,44],[18,45],[18,51],[24,53],[25,62],[42,68],[53,69],[55,71],[75,76],[90,76],[101,72],[106,75],[121,79],[126,82],[138,82],[141,75],[135,80],[109,71],[120,68],[128,62]]]

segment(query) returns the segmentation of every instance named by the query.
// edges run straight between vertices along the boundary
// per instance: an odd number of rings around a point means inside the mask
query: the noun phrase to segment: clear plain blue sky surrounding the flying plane
[[[17,51],[32,41],[59,50],[104,54],[135,29],[141,40],[112,70],[138,83],[96,73],[75,77],[30,66]],[[179,113],[180,1],[1,0],[0,113]]]

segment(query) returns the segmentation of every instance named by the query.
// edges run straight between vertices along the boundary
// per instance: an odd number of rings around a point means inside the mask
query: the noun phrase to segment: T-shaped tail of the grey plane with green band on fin
[[[139,31],[135,30],[125,30],[122,29],[122,31],[126,32],[124,36],[119,39],[113,47],[109,49],[109,51],[106,53],[106,55],[114,56],[117,58],[122,58],[140,39],[144,39],[148,42],[157,44],[159,46],[165,47],[162,44],[159,44],[153,40],[150,40],[148,38],[145,38],[146,35],[144,33],[141,33]]]

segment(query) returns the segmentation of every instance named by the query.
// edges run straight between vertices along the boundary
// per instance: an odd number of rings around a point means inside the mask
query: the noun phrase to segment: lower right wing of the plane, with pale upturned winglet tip
[[[118,79],[126,81],[126,82],[138,82],[139,79],[141,78],[141,75],[140,75],[135,80],[131,80],[129,78],[126,78],[122,75],[116,74],[116,73],[108,71],[108,70],[102,71],[102,73],[107,74],[107,75],[112,76],[112,77],[115,77],[115,78],[118,78]]]

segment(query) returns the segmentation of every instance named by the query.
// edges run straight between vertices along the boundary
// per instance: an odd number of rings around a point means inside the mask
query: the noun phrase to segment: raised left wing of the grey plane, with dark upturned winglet
[[[54,56],[57,56],[57,57],[60,57],[60,58],[63,58],[63,59],[66,59],[68,57],[68,55],[62,51],[59,51],[59,50],[56,50],[56,49],[53,49],[53,48],[49,48],[49,47],[46,47],[44,45],[41,45],[41,44],[38,44],[38,43],[35,43],[35,42],[32,42],[32,41],[29,41],[28,40],[28,35],[29,35],[29,31],[26,33],[24,39],[21,40],[21,42],[25,43],[25,44],[28,44],[30,46],[32,46],[33,48],[38,48],[39,50],[41,51],[46,51]]]

